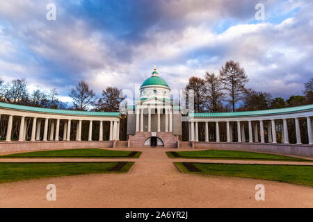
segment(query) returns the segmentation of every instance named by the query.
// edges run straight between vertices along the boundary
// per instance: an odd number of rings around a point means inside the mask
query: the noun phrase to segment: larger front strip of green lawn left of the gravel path
[[[134,162],[1,162],[0,183],[91,173],[127,173]]]

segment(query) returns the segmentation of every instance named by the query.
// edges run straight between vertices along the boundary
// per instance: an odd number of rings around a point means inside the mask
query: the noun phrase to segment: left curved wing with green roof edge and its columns
[[[0,103],[0,117],[8,119],[6,142],[15,140],[12,135],[13,124],[19,128],[17,138],[19,142],[81,141],[83,122],[89,123],[88,141],[95,140],[93,139],[93,133],[95,133],[93,124],[95,123],[99,126],[97,140],[104,140],[104,122],[108,122],[110,126],[109,140],[119,140],[119,112],[53,110]],[[63,131],[63,134],[60,133],[61,131]]]

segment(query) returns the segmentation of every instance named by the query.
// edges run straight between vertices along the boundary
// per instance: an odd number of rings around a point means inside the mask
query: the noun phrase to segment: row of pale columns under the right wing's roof
[[[257,120],[244,120],[240,119],[236,121],[213,121],[213,120],[204,120],[204,119],[191,119],[189,121],[189,141],[198,142],[199,132],[198,132],[198,123],[205,123],[205,142],[209,142],[209,123],[215,123],[215,142],[220,142],[220,122],[226,123],[226,142],[234,142],[233,132],[237,130],[236,142],[246,142],[246,129],[245,123],[248,122],[248,142],[250,143],[265,143],[264,135],[265,130],[264,126],[266,126],[266,135],[268,136],[268,143],[277,143],[276,138],[276,123],[275,121],[280,121],[282,123],[282,142],[284,144],[289,144],[289,136],[288,136],[288,127],[287,127],[287,119],[294,119],[295,123],[295,133],[296,133],[296,144],[302,144],[301,142],[301,133],[300,133],[300,123],[299,119],[305,119],[306,121],[306,130],[308,135],[308,144],[313,144],[313,135],[312,135],[312,126],[313,126],[313,118],[312,117],[296,117],[296,118],[283,118],[283,119],[257,119]],[[236,126],[236,127],[235,127]]]

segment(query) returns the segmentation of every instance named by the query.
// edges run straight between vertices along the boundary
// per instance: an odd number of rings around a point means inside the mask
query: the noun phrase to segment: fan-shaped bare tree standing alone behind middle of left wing
[[[75,110],[88,110],[95,103],[95,93],[84,80],[79,81],[72,89],[70,97],[73,99]]]

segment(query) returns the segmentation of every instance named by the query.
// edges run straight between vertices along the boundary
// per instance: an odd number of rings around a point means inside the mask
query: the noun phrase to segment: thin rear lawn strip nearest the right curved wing
[[[297,157],[287,155],[277,155],[271,153],[254,153],[248,151],[225,151],[225,150],[205,150],[205,151],[179,151],[166,152],[171,158],[200,158],[200,159],[229,159],[229,160],[281,160],[311,162]]]

